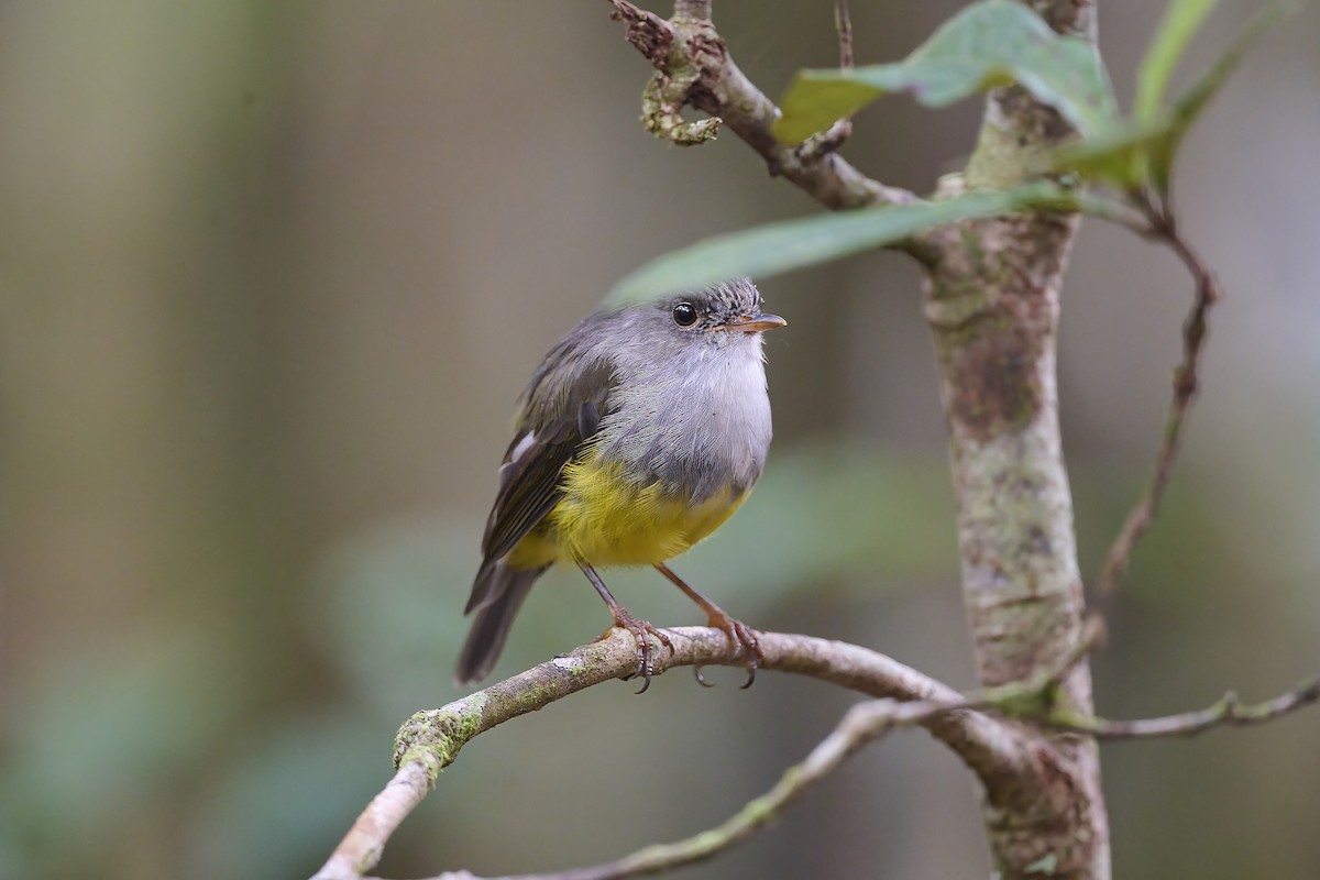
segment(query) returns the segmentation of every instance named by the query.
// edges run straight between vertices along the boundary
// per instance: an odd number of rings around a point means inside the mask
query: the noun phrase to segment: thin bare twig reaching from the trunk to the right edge
[[[1237,694],[1229,691],[1221,701],[1197,712],[1115,722],[1105,718],[1056,710],[1043,723],[1056,730],[1086,734],[1097,739],[1152,739],[1156,736],[1195,736],[1214,727],[1246,727],[1282,718],[1304,706],[1320,701],[1320,678],[1295,690],[1254,706],[1243,706]]]

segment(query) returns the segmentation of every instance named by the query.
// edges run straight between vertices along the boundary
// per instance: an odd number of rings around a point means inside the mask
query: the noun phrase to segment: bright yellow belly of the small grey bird
[[[550,562],[597,566],[655,565],[685,553],[746,499],[746,492],[717,492],[701,504],[665,497],[660,484],[635,486],[619,463],[593,459],[564,470],[564,497],[510,553],[519,569]]]

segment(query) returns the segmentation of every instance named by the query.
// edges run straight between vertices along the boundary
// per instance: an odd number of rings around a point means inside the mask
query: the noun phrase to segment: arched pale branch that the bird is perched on
[[[673,652],[663,652],[655,674],[686,665],[741,665],[731,657],[718,629],[681,627],[665,631]],[[962,708],[965,699],[903,664],[866,648],[788,633],[758,633],[762,669],[775,669],[829,681],[867,695],[904,702],[936,702],[941,711],[921,714],[908,723],[921,724],[986,781],[987,790],[1035,797],[1041,767],[1039,744],[1016,727],[982,712]],[[477,691],[438,710],[417,712],[399,731],[393,781],[376,796],[317,880],[360,877],[380,858],[399,822],[417,806],[440,770],[474,736],[519,715],[536,711],[578,690],[636,669],[636,644],[630,633],[583,645],[519,676]],[[957,710],[957,711],[954,711]],[[907,715],[904,715],[907,718]],[[1018,793],[1018,794],[1012,794]]]

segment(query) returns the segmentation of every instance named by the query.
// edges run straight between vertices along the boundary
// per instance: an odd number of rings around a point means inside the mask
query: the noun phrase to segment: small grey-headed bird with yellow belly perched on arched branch
[[[564,562],[587,577],[614,625],[636,637],[643,691],[649,636],[672,645],[610,595],[597,566],[655,566],[729,635],[734,654],[746,653],[743,686],[751,685],[759,660],[752,629],[665,562],[719,528],[764,467],[771,422],[762,331],[787,322],[760,306],[755,285],[738,278],[606,307],[545,356],[519,400],[499,468],[467,600],[477,619],[458,658],[459,683],[490,673],[532,583]]]

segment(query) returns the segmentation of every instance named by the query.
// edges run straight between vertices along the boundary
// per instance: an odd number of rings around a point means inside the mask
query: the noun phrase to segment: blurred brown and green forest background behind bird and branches
[[[960,4],[853,5],[867,63]],[[1102,4],[1125,103],[1162,5]],[[1224,3],[1184,74],[1254,5]],[[836,63],[826,0],[715,12],[772,95]],[[1320,665],[1317,37],[1313,13],[1271,34],[1187,145],[1184,224],[1228,298],[1096,661],[1110,716]],[[643,261],[817,210],[733,136],[645,135],[648,74],[599,1],[0,4],[0,876],[309,875],[389,777],[399,724],[461,695],[461,611],[543,352]],[[845,154],[929,191],[978,113],[891,99]],[[875,255],[762,289],[791,323],[767,339],[768,471],[677,570],[754,625],[973,685],[917,272]],[[1189,297],[1171,256],[1086,224],[1060,377],[1088,578],[1148,472]],[[700,623],[653,573],[609,581]],[[498,673],[607,621],[552,573]],[[597,687],[479,738],[380,873],[692,834],[854,701],[710,678]],[[1106,745],[1118,876],[1313,876],[1317,739],[1312,710]],[[983,877],[978,823],[968,773],[911,732],[678,876]]]

